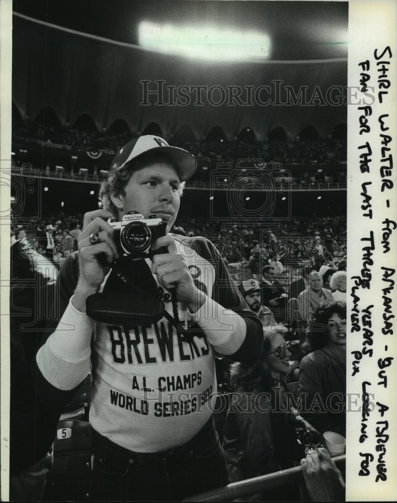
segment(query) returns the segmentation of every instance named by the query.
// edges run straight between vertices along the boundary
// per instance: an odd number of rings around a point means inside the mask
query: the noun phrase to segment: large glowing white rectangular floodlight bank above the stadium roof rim
[[[270,53],[270,39],[264,33],[214,26],[172,26],[142,21],[138,41],[157,52],[215,61],[263,59]]]

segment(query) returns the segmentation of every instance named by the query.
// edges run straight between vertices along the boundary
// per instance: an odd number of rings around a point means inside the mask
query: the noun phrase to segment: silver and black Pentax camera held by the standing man
[[[114,240],[121,256],[132,259],[145,259],[155,254],[167,253],[162,247],[152,251],[150,245],[158,237],[166,235],[167,222],[157,215],[144,218],[137,211],[126,213],[121,222],[109,222],[114,229]]]

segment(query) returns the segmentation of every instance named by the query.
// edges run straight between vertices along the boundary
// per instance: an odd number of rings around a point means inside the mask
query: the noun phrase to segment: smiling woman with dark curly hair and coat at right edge
[[[333,431],[345,437],[345,302],[317,306],[311,315],[305,345],[308,354],[299,368],[301,414],[319,432]]]

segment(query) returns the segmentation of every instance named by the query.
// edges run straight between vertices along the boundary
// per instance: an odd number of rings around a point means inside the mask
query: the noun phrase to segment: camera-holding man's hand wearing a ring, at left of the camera
[[[98,291],[111,264],[118,258],[113,240],[114,230],[105,221],[111,216],[105,210],[91,211],[84,215],[83,232],[77,238],[80,278],[73,296],[73,305],[79,311],[86,310],[87,297]],[[90,235],[95,233],[100,240],[92,244]]]

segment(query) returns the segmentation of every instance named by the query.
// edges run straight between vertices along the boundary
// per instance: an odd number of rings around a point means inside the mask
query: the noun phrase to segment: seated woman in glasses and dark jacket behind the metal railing
[[[223,448],[233,482],[299,464],[304,454],[297,430],[304,433],[307,443],[321,440],[319,432],[295,409],[289,410],[283,376],[290,368],[290,356],[289,343],[282,334],[265,330],[260,359],[254,365],[234,363],[230,367],[235,393],[223,429]],[[277,489],[257,494],[250,501],[293,499],[295,490]]]

